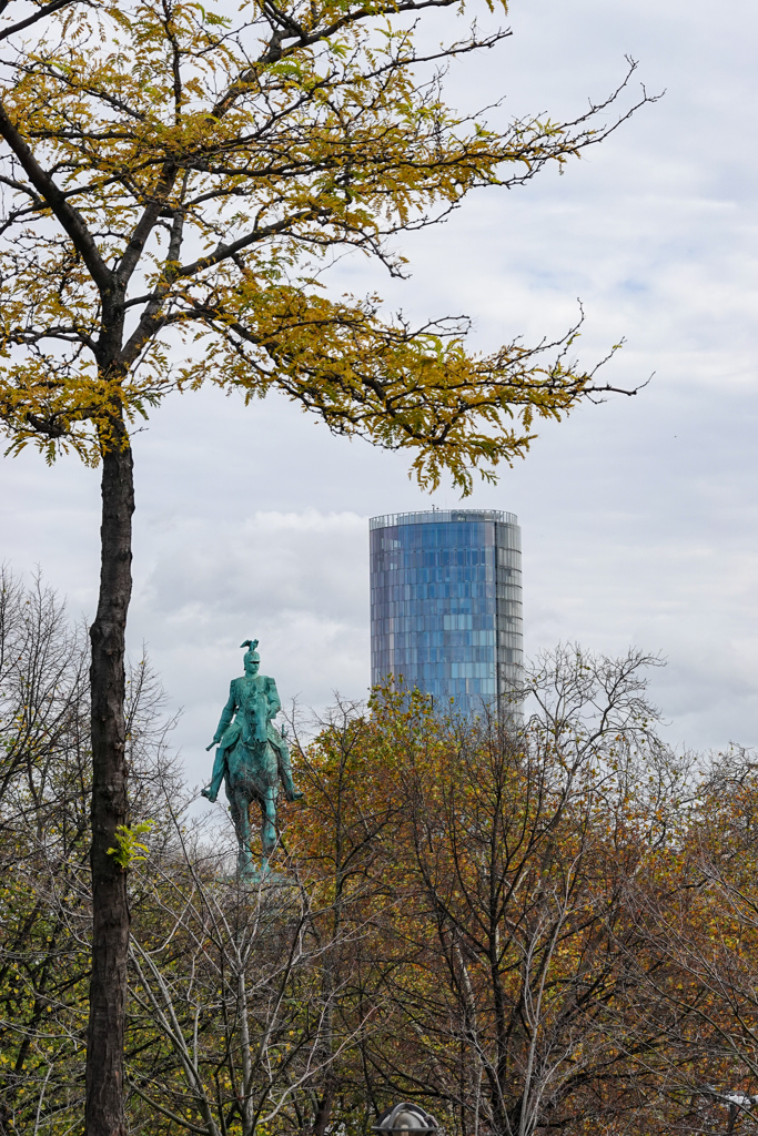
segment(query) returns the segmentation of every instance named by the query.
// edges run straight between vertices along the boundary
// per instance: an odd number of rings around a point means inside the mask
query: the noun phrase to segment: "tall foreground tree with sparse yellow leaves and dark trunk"
[[[401,273],[393,236],[565,162],[632,112],[598,124],[625,81],[570,123],[498,133],[457,115],[439,67],[508,33],[420,50],[415,17],[451,5],[0,2],[0,419],[11,452],[73,450],[102,476],[90,1136],[124,1131],[128,909],[108,853],[128,819],[134,420],[203,382],[248,400],[280,390],[334,432],[409,450],[422,485],[447,470],[466,492],[473,468],[525,452],[535,419],[599,390],[567,364],[572,335],[482,357],[459,321],[411,327],[322,286],[335,250]]]

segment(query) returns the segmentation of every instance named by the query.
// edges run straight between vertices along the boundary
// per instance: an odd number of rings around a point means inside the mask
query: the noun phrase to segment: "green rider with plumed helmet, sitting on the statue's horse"
[[[218,728],[208,746],[209,750],[214,745],[218,749],[210,784],[202,790],[202,795],[209,801],[216,800],[224,776],[228,777],[228,754],[240,740],[248,746],[268,741],[276,754],[278,777],[284,786],[285,797],[288,801],[299,801],[302,793],[292,782],[285,727],[283,726],[280,733],[272,721],[282,709],[276,683],[267,675],[258,674],[260,668],[260,655],[256,651],[258,640],[245,640],[240,645],[249,648],[243,660],[244,675],[232,679]]]

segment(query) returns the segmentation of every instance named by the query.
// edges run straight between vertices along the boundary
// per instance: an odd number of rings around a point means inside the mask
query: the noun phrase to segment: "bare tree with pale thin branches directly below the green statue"
[[[352,1043],[334,1027],[330,901],[292,864],[251,887],[225,876],[228,850],[203,853],[186,834],[182,844],[183,859],[144,862],[150,896],[130,952],[132,1116],[151,1131],[163,1117],[167,1130],[207,1136],[313,1128],[314,1093]]]

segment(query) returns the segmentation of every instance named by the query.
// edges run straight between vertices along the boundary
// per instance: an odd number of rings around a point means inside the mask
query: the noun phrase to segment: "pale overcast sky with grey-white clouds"
[[[564,176],[483,191],[411,236],[408,282],[353,264],[335,286],[380,289],[418,318],[467,312],[483,349],[561,334],[577,298],[583,362],[625,337],[608,379],[655,371],[651,384],[544,429],[468,504],[518,515],[528,653],[566,640],[659,651],[653,692],[672,742],[755,745],[758,9],[514,0],[509,23],[511,39],[453,68],[453,105],[505,94],[509,114],[569,117],[616,85],[625,55],[666,94]],[[245,410],[214,392],[175,398],[134,446],[131,652],[147,642],[184,707],[177,741],[200,779],[242,640],[260,640],[284,700],[366,693],[368,517],[457,496],[423,495],[401,457],[333,438],[277,399]],[[91,615],[97,473],[26,452],[0,476],[0,556],[40,565]]]

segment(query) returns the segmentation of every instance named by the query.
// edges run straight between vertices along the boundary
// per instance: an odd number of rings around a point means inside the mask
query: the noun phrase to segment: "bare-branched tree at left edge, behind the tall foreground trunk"
[[[0,573],[0,1131],[81,1122],[91,950],[89,644],[40,577]],[[135,822],[176,768],[143,660],[128,675]],[[160,787],[160,794],[158,794]],[[160,830],[160,826],[158,832]],[[158,838],[158,837],[156,837]]]

